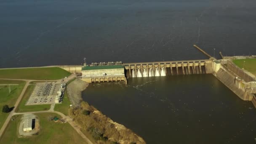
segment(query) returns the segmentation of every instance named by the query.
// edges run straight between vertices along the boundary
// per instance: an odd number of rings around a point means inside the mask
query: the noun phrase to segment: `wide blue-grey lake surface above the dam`
[[[0,67],[256,54],[255,0],[1,0]]]

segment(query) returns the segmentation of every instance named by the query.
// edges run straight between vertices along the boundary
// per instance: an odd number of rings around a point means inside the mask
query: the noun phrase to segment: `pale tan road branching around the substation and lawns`
[[[72,80],[74,77],[75,77],[75,75],[70,75],[70,76],[65,80],[65,82],[68,81],[68,80]],[[2,78],[0,78],[0,80],[22,80],[22,79],[2,79]],[[75,124],[75,122],[72,120],[71,117],[66,116],[66,115],[64,115],[64,114],[61,113],[61,112],[56,112],[56,111],[54,111],[54,110],[53,110],[53,109],[54,109],[54,105],[53,105],[53,108],[49,109],[48,111],[16,113],[15,110],[16,110],[16,108],[18,107],[18,105],[19,105],[19,103],[20,103],[20,101],[21,101],[21,99],[22,99],[22,97],[23,97],[25,91],[27,90],[27,87],[29,86],[29,83],[32,82],[32,81],[37,81],[37,80],[23,80],[23,81],[26,81],[26,85],[24,86],[24,88],[23,88],[21,94],[19,95],[19,98],[17,99],[17,101],[16,101],[16,103],[15,103],[15,105],[14,105],[14,109],[10,112],[10,114],[9,114],[8,117],[7,117],[7,119],[5,120],[5,123],[3,124],[2,128],[0,129],[0,138],[1,138],[1,136],[3,136],[4,131],[5,131],[6,127],[8,126],[8,123],[10,122],[11,117],[12,117],[13,115],[23,115],[23,114],[34,114],[34,113],[52,112],[52,113],[56,113],[56,114],[58,114],[58,115],[61,115],[61,117],[63,117],[65,120],[67,120],[67,122],[75,129],[75,131],[77,131],[78,134],[80,134],[80,136],[82,136],[83,139],[85,139],[85,141],[86,141],[88,144],[93,144],[93,143],[91,142],[91,140],[88,139],[88,137],[85,136],[85,135],[80,131],[80,127]]]

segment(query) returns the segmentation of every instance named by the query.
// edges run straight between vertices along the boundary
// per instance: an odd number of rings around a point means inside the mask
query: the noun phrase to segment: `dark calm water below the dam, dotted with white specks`
[[[213,75],[93,83],[83,99],[148,144],[254,144],[256,109]]]

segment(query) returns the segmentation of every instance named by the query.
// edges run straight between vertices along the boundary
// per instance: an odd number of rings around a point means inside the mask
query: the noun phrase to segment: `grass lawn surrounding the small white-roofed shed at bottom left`
[[[72,128],[69,123],[55,123],[48,121],[49,116],[57,116],[52,113],[35,114],[40,120],[40,132],[30,137],[18,137],[18,125],[21,115],[14,116],[6,129],[0,144],[86,144],[84,139]]]

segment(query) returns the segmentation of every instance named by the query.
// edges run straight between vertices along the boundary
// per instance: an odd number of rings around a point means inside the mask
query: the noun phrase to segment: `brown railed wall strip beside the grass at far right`
[[[227,68],[241,77],[245,82],[256,81],[254,77],[248,75],[244,70],[240,69],[240,67],[237,67],[232,61],[227,61]]]

